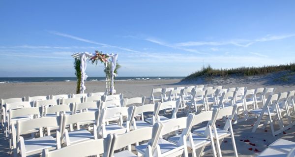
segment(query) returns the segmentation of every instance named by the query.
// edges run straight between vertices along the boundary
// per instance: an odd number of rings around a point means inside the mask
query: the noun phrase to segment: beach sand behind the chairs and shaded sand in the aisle
[[[117,93],[124,94],[124,97],[137,97],[137,96],[150,96],[152,88],[162,87],[179,87],[179,86],[192,86],[196,84],[207,84],[208,86],[224,85],[225,88],[229,87],[247,87],[248,89],[256,89],[258,87],[276,87],[279,92],[287,92],[295,90],[294,84],[284,84],[269,81],[269,79],[262,79],[257,77],[247,78],[226,78],[214,79],[209,82],[202,80],[179,83],[179,79],[173,80],[136,80],[136,81],[116,81],[115,89]],[[86,82],[86,93],[90,92],[104,92],[104,82]],[[71,94],[75,93],[76,82],[36,82],[36,83],[6,83],[0,84],[0,98],[23,97],[23,96],[36,96],[36,95],[50,95],[50,94]],[[286,131],[286,134],[279,134],[276,137],[271,135],[270,127],[266,129],[257,129],[252,133],[252,127],[255,119],[241,122],[234,125],[234,133],[236,138],[236,147],[239,157],[255,157],[259,152],[267,148],[267,145],[274,142],[278,138],[284,138],[295,142],[295,127]],[[221,123],[221,122],[217,122]],[[265,131],[267,130],[267,132]],[[252,146],[249,140],[256,146]],[[231,157],[234,155],[231,138],[226,138],[222,143],[223,157]],[[248,150],[252,148],[253,150]],[[0,133],[0,157],[8,156],[7,154],[8,143],[3,139],[3,134]],[[210,155],[209,155],[210,156]]]

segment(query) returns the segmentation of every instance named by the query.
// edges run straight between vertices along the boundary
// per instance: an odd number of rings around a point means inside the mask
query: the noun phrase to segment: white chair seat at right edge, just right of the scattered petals
[[[274,141],[273,143],[271,143],[268,147],[271,149],[275,149],[277,151],[289,153],[292,150],[292,148],[295,147],[295,142],[284,140],[284,139],[280,138],[280,139]]]

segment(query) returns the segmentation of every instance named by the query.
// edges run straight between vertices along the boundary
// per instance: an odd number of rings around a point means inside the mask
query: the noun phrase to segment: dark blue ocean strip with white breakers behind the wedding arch
[[[160,79],[182,79],[184,77],[116,77],[116,81],[128,80],[160,80]],[[18,83],[18,82],[58,82],[58,81],[76,81],[76,77],[0,77],[0,83]],[[86,81],[105,81],[105,77],[88,77]]]

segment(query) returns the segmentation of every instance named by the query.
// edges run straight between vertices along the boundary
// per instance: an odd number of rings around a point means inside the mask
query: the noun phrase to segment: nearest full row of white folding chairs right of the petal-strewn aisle
[[[293,103],[294,94],[295,94],[294,91],[290,91],[288,93],[285,92],[280,94],[269,95],[262,109],[256,109],[256,110],[250,111],[251,113],[254,113],[256,116],[258,116],[257,122],[255,126],[253,127],[252,132],[255,132],[256,129],[260,126],[263,126],[263,128],[265,128],[268,122],[270,124],[271,132],[273,136],[293,126],[290,109],[293,110],[293,113],[295,113],[295,110],[294,110],[295,106]],[[264,116],[266,116],[266,120],[264,124],[261,125],[260,123]],[[285,116],[288,118],[288,125],[284,125],[283,123],[282,119]],[[278,121],[279,123],[278,130],[274,129],[274,125],[276,121]]]

